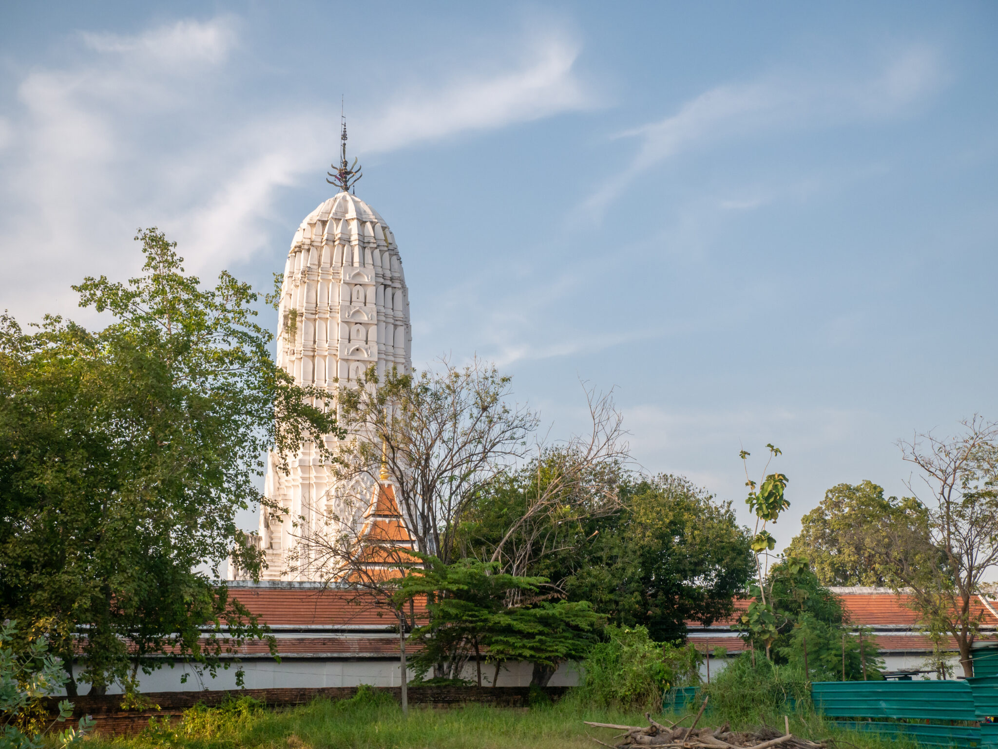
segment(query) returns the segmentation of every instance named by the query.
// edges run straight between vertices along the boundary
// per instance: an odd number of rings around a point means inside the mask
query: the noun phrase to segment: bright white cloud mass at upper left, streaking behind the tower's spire
[[[167,229],[188,268],[203,275],[272,245],[267,222],[281,190],[327,161],[336,108],[279,95],[248,103],[241,23],[221,16],[136,35],[81,33],[72,65],[25,73],[0,112],[4,306],[26,317],[72,310],[68,287],[84,274],[135,269],[139,225]],[[499,46],[502,56],[477,56],[473,74],[455,65],[363,103],[371,114],[352,129],[362,137],[351,151],[390,151],[592,105],[568,36]]]

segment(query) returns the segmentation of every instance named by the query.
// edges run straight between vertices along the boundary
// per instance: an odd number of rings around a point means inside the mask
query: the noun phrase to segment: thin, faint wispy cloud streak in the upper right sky
[[[851,75],[769,75],[713,88],[657,122],[620,133],[637,139],[631,163],[585,201],[599,218],[638,176],[682,153],[752,136],[828,127],[903,115],[943,80],[935,50],[910,47],[875,69]]]

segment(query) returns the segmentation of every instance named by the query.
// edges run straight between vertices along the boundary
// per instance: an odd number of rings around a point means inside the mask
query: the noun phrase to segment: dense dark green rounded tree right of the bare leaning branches
[[[657,641],[685,638],[688,621],[730,616],[752,572],[749,535],[731,503],[660,475],[624,484],[621,504],[576,525],[578,543],[542,557],[538,571],[569,599],[591,601],[619,626],[644,626]]]

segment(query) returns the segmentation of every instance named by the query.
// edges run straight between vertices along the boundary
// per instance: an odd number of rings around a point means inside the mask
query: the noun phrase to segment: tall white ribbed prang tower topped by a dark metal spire
[[[347,166],[345,122],[340,140],[339,167],[333,165],[326,180],[340,191],[294,232],[277,311],[277,364],[296,384],[329,393],[349,387],[371,365],[379,377],[392,367],[399,373],[412,367],[409,292],[395,237],[377,211],[349,191],[361,175],[356,159]],[[273,454],[267,457],[263,493],[287,514],[278,522],[260,510],[264,579],[304,579],[288,572],[292,545],[339,513],[344,488],[314,452],[302,448],[288,461],[287,475],[277,470]],[[353,487],[350,494],[363,491]],[[293,528],[294,521],[305,528]]]

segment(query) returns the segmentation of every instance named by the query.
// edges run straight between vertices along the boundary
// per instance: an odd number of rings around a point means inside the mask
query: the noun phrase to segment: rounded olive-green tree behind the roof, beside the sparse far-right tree
[[[890,525],[923,522],[911,499],[884,498],[870,481],[836,484],[800,521],[800,533],[784,554],[805,557],[825,585],[887,585],[891,572],[877,553]]]

